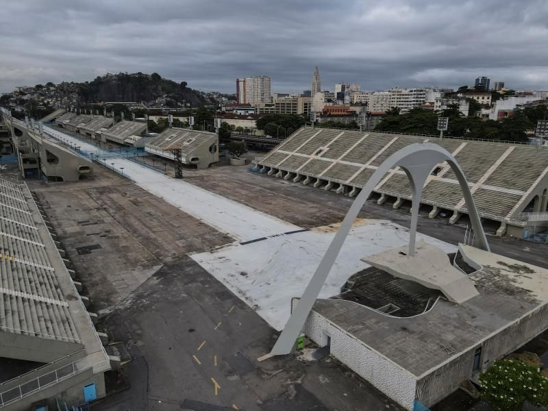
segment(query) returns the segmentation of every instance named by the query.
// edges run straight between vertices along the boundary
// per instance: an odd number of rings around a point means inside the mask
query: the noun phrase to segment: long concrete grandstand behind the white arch
[[[388,156],[416,142],[434,142],[456,157],[469,181],[480,216],[499,221],[498,235],[521,236],[521,212],[548,206],[548,157],[543,149],[503,142],[408,136],[303,127],[256,161],[262,173],[356,195]],[[379,203],[395,197],[394,208],[411,199],[406,174],[393,169],[375,186]],[[451,210],[451,223],[466,214],[455,175],[446,163],[432,171],[422,202],[429,216]]]

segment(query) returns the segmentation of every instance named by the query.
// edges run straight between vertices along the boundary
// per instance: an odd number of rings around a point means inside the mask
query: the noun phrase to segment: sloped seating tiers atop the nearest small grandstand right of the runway
[[[155,136],[147,143],[147,148],[156,150],[181,149],[182,153],[190,153],[204,142],[211,144],[217,135],[209,132],[199,132],[191,129],[169,128]]]

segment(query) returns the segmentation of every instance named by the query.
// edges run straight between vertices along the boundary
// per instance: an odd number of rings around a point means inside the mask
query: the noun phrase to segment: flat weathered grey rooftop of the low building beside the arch
[[[481,270],[469,275],[479,295],[464,303],[440,297],[435,305],[426,307],[422,303],[436,297],[436,292],[432,295],[425,288],[406,288],[405,280],[370,270],[365,271],[367,281],[360,280],[361,291],[353,292],[354,297],[365,295],[363,301],[347,301],[341,296],[321,299],[316,301],[314,311],[421,377],[547,305],[548,270],[466,245],[461,247],[466,256],[482,265]],[[382,284],[385,279],[389,279],[388,284]],[[402,286],[406,290],[403,293],[399,291]],[[415,303],[406,306],[403,299],[408,295]],[[416,313],[419,306],[428,310],[403,318],[396,316],[397,311],[393,316],[378,312],[380,303],[401,304],[408,314]]]

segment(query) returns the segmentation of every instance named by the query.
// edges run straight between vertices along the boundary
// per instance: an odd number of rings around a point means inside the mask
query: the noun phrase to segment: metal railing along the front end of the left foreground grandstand
[[[107,370],[110,369],[110,363],[108,360],[103,360],[92,364],[89,357],[71,362],[70,364],[53,371],[49,371],[48,373],[40,375],[40,377],[33,378],[28,382],[0,393],[0,408],[8,406],[11,403],[28,397],[29,395],[45,390],[46,388],[58,384],[65,379],[73,377],[73,375],[83,373],[89,369],[92,369],[94,372]]]

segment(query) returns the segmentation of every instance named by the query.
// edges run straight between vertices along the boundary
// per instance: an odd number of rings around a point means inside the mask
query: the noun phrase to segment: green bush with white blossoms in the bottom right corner
[[[493,410],[521,410],[528,401],[533,406],[548,406],[548,379],[540,369],[525,362],[501,360],[479,376],[482,399]]]

